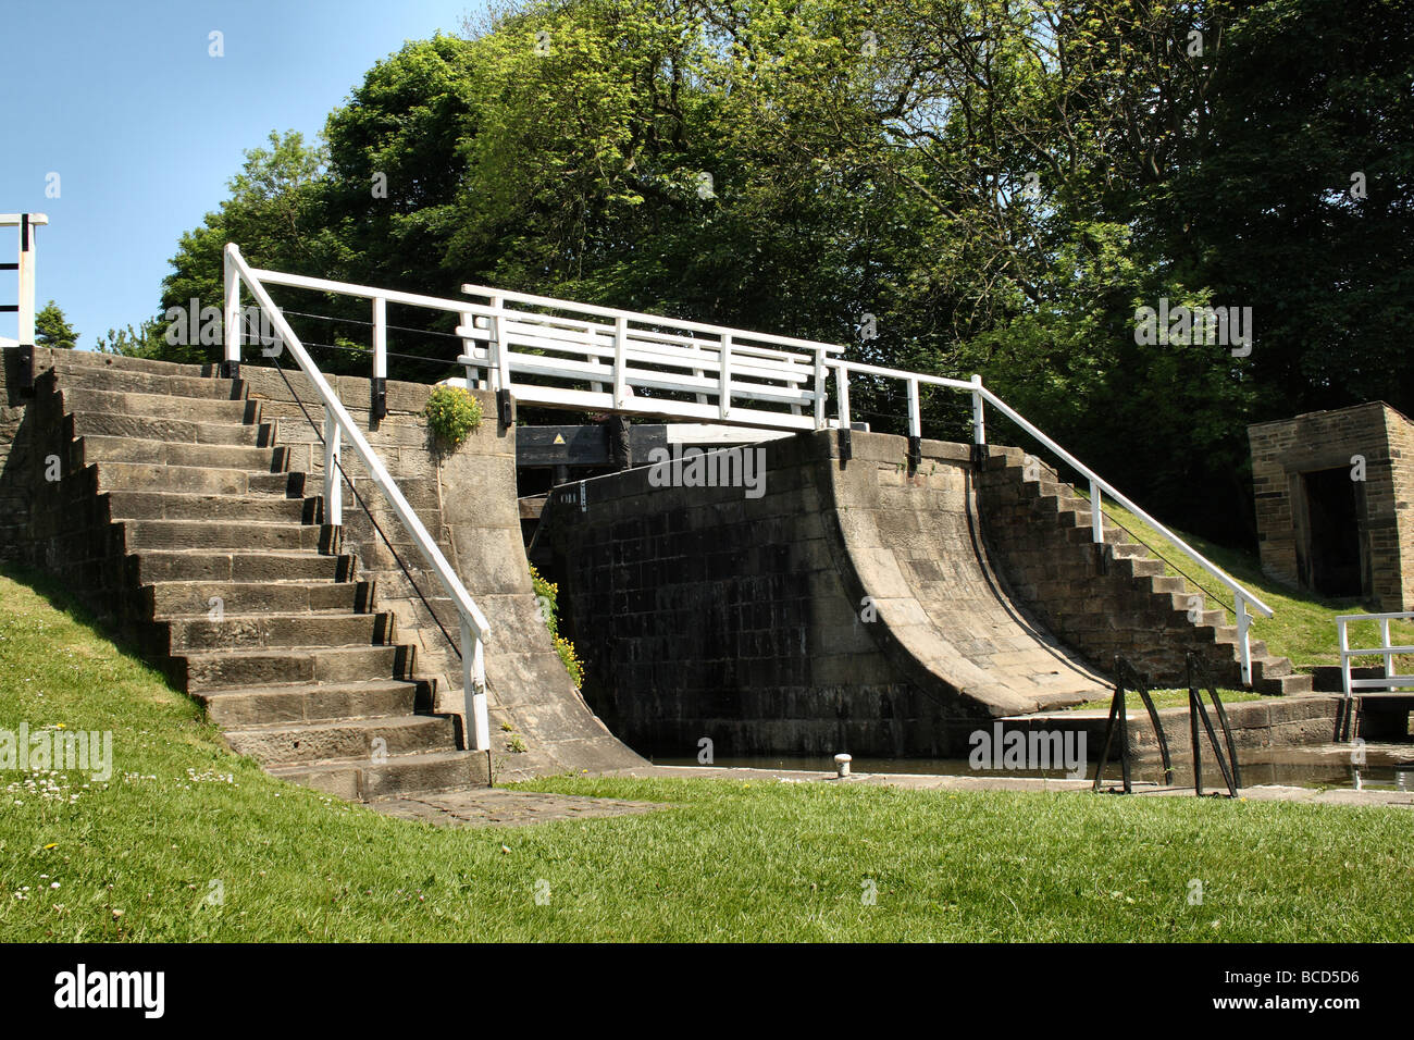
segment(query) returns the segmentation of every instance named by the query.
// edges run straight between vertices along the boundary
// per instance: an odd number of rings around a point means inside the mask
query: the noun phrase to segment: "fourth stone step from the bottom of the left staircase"
[[[410,679],[413,648],[304,647],[286,649],[221,649],[175,654],[171,678],[188,693],[270,683],[362,682]]]

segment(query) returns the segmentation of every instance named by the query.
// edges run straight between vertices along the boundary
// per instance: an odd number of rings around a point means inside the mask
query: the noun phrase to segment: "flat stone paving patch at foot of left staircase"
[[[447,791],[369,802],[369,808],[389,816],[420,819],[440,826],[526,826],[556,819],[600,819],[633,816],[666,809],[660,802],[632,802],[622,798],[585,798],[583,795],[544,794],[478,788]]]

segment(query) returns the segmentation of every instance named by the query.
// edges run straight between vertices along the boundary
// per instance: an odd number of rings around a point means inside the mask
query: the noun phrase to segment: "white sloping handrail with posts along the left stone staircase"
[[[228,243],[225,250],[225,357],[226,362],[232,365],[240,364],[240,286],[245,283],[250,294],[255,296],[256,301],[260,304],[262,311],[274,325],[274,331],[280,338],[284,348],[288,348],[290,354],[294,355],[296,362],[300,369],[310,379],[320,400],[324,405],[324,509],[325,521],[334,526],[342,524],[342,485],[339,483],[338,473],[338,458],[339,446],[344,439],[352,446],[354,453],[363,463],[368,470],[369,478],[383,492],[389,505],[393,507],[393,512],[397,519],[402,521],[403,526],[411,535],[413,543],[421,552],[423,559],[437,574],[441,582],[443,589],[445,589],[447,596],[451,597],[452,604],[457,607],[457,613],[461,616],[461,668],[462,668],[462,696],[464,696],[464,710],[467,717],[467,732],[471,746],[478,751],[485,751],[491,749],[491,729],[486,716],[486,662],[485,662],[485,641],[491,635],[491,625],[486,623],[485,616],[477,607],[477,603],[471,599],[467,587],[457,577],[457,572],[452,570],[447,557],[443,555],[441,549],[437,548],[437,542],[427,532],[427,528],[419,519],[413,507],[409,505],[407,498],[399,490],[397,483],[389,474],[387,467],[383,466],[383,460],[379,457],[373,446],[368,443],[363,432],[359,430],[358,424],[349,416],[348,409],[339,400],[334,388],[329,386],[328,379],[320,371],[318,365],[304,349],[304,344],[300,342],[300,337],[294,334],[290,328],[290,323],[286,321],[284,314],[276,307],[274,301],[270,299],[270,293],[266,289],[262,273],[252,269],[245,258],[240,256],[240,249],[235,243]],[[284,276],[288,279],[290,276]],[[287,280],[283,283],[288,283]],[[402,293],[375,293],[373,299],[393,299],[406,297]],[[403,301],[403,300],[399,300]]]

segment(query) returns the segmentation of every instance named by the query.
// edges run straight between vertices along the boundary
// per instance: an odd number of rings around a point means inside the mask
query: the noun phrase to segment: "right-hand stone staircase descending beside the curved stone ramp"
[[[1195,651],[1215,682],[1240,685],[1237,627],[1209,608],[1144,545],[1104,519],[1106,562],[1090,535],[1090,502],[1055,470],[1028,466],[1018,449],[991,449],[983,474],[987,539],[1001,572],[1045,623],[1092,661],[1128,658],[1159,685],[1184,685],[1182,654]],[[1182,560],[1179,560],[1182,563]],[[1196,565],[1193,565],[1196,570]],[[1124,618],[1131,621],[1127,624]],[[1260,618],[1254,623],[1254,631]],[[1312,678],[1251,640],[1253,688],[1260,693],[1309,693]]]

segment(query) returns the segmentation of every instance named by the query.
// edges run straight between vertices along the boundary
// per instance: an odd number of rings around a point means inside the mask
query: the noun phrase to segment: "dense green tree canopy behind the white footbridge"
[[[235,241],[354,282],[848,342],[981,372],[1145,505],[1236,539],[1249,422],[1414,410],[1410,7],[527,0],[379,62],[322,141],[250,151],[163,308],[219,306]],[[1141,344],[1161,300],[1250,307],[1251,342]],[[311,310],[349,320],[311,341],[366,347],[346,301]],[[899,402],[858,393],[898,429]],[[960,434],[967,409],[926,420]]]

